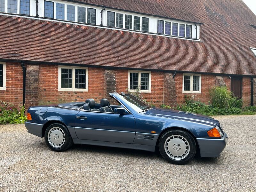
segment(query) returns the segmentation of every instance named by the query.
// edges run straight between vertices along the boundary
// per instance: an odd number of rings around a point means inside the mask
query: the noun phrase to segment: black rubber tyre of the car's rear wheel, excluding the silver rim
[[[65,141],[63,143],[63,145],[61,147],[53,147],[49,140],[48,140],[48,132],[53,128],[53,127],[58,127],[60,128],[64,133],[65,133]],[[54,123],[54,124],[51,124],[47,127],[45,133],[44,133],[44,140],[45,140],[45,143],[46,145],[52,149],[53,151],[65,151],[67,150],[68,148],[70,148],[72,145],[73,145],[73,140],[70,136],[70,133],[67,129],[67,127],[65,127],[63,124],[59,124],[59,123]]]

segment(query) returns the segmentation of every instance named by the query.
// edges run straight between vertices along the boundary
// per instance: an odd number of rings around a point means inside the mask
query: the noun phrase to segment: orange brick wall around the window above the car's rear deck
[[[105,97],[103,68],[88,69],[88,92],[58,91],[58,66],[39,66],[39,104],[81,102],[88,98],[94,98],[97,102]]]

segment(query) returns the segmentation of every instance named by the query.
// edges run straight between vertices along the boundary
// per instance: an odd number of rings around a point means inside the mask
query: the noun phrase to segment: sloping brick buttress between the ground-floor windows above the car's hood
[[[171,73],[164,73],[164,104],[172,107],[177,105],[175,81]]]

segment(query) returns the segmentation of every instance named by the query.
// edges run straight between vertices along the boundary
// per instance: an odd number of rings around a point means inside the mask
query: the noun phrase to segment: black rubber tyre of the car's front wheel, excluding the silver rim
[[[180,135],[188,141],[190,150],[188,152],[188,155],[184,159],[180,159],[180,160],[172,159],[169,155],[167,155],[167,152],[165,152],[165,146],[164,146],[165,141],[172,135]],[[189,161],[191,161],[194,158],[196,154],[196,142],[192,137],[192,135],[186,131],[177,130],[177,129],[165,132],[159,139],[158,148],[159,148],[160,154],[164,157],[164,159],[172,164],[187,164]]]

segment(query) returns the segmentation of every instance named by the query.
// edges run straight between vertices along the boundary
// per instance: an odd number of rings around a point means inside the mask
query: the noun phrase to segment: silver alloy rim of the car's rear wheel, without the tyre
[[[60,127],[52,127],[48,132],[48,141],[54,148],[60,148],[65,142],[65,133]]]

